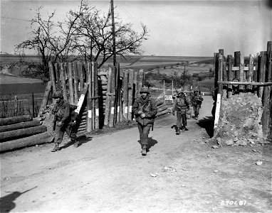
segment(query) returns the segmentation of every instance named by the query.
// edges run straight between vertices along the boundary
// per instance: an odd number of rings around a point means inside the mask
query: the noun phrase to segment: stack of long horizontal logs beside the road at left
[[[53,141],[46,126],[31,116],[0,119],[0,152]]]

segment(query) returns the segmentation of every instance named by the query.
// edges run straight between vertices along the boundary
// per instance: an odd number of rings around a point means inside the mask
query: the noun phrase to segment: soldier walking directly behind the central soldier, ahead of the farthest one
[[[180,134],[180,130],[185,131],[187,126],[186,111],[189,110],[189,99],[185,96],[182,89],[177,89],[177,97],[174,99],[172,114],[177,111],[177,129],[176,134]]]

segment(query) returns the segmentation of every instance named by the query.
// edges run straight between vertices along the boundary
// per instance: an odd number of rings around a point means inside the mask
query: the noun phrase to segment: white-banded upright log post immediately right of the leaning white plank
[[[87,97],[87,110],[88,110],[88,118],[87,118],[87,132],[90,132],[93,130],[93,112],[92,112],[92,65],[90,62],[88,62],[88,97]]]

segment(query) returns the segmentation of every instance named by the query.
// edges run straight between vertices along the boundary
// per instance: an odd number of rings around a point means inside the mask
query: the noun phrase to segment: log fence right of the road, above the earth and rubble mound
[[[261,124],[263,135],[266,137],[271,131],[271,105],[272,105],[272,57],[271,41],[267,43],[267,50],[257,53],[254,58],[249,55],[249,63],[245,64],[244,55],[239,51],[225,58],[224,50],[214,53],[214,87],[218,88],[216,102],[216,117],[214,129],[219,124],[219,109],[221,98],[229,98],[233,94],[252,92],[262,99],[263,115]],[[234,61],[234,63],[233,63]],[[271,132],[270,132],[271,133]]]

